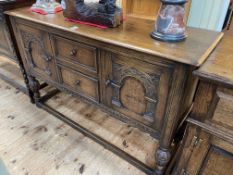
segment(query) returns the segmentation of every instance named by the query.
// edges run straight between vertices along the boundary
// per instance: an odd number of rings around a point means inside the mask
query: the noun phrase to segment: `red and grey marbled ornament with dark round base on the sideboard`
[[[162,41],[182,41],[187,37],[185,20],[186,0],[161,0],[155,29],[151,33],[154,39]]]

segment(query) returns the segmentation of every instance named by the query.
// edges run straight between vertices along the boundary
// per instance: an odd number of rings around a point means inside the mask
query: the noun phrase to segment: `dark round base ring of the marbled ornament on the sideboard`
[[[151,37],[160,41],[170,41],[170,42],[178,42],[183,41],[187,38],[186,34],[183,35],[165,35],[159,32],[153,31],[151,33]]]

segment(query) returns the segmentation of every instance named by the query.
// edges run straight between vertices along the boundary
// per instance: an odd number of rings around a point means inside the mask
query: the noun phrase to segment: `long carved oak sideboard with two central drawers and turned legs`
[[[154,21],[127,18],[115,29],[65,21],[62,13],[42,16],[21,8],[7,12],[39,107],[54,114],[147,174],[164,174],[176,145],[174,135],[190,111],[199,67],[221,33],[189,28],[180,43],[150,38]],[[159,141],[156,167],[149,167],[51,109],[38,80],[97,105]],[[51,96],[51,94],[48,94]]]

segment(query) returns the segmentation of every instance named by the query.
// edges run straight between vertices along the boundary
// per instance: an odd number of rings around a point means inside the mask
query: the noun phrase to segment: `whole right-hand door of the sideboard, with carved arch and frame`
[[[158,64],[102,52],[102,101],[125,116],[159,130],[174,67],[155,59]]]

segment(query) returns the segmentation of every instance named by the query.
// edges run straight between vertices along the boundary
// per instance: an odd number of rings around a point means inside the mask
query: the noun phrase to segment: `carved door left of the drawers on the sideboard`
[[[57,80],[48,34],[25,26],[20,28],[20,34],[29,71],[48,79]]]

